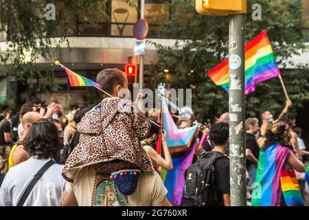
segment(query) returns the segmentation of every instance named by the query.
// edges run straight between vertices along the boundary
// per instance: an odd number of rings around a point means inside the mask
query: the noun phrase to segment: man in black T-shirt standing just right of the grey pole
[[[248,118],[245,121],[246,127],[246,168],[249,173],[249,184],[253,184],[255,180],[256,168],[258,167],[258,158],[260,147],[255,140],[255,135],[259,132],[258,118]]]

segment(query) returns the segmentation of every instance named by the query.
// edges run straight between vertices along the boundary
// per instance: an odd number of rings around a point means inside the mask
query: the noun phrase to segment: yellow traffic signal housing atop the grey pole
[[[196,0],[195,7],[198,14],[246,14],[247,0]]]

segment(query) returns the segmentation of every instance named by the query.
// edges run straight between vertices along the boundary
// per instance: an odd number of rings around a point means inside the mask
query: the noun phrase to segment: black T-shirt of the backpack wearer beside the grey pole
[[[216,154],[216,158],[224,155],[218,151],[211,151],[210,153]],[[219,206],[225,206],[223,200],[223,194],[229,194],[230,185],[229,185],[229,158],[221,157],[216,160],[214,163],[214,172],[215,172],[215,183],[217,196],[219,199]]]

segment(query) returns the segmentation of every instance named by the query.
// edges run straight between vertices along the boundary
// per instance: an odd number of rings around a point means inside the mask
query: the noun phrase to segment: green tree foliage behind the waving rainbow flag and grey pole
[[[251,18],[253,3],[262,5],[261,21]],[[165,81],[169,88],[192,88],[192,107],[199,120],[218,117],[228,111],[228,94],[211,81],[207,72],[227,57],[228,18],[198,14],[195,1],[176,0],[167,4],[172,16],[162,25],[161,32],[178,40],[172,47],[155,45],[159,58],[146,72],[146,85],[155,89]],[[265,29],[278,65],[293,64],[288,61],[291,56],[308,50],[301,0],[249,0],[247,8],[246,42]],[[163,69],[169,69],[171,74],[165,74]],[[294,112],[309,100],[308,71],[304,66],[281,70]],[[279,78],[273,78],[260,83],[253,94],[246,96],[247,116],[258,117],[266,109],[278,115],[284,103]]]

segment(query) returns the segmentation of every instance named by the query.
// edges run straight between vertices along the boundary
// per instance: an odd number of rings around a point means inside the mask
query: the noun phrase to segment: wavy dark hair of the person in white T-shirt
[[[25,151],[38,159],[57,157],[61,144],[55,124],[47,119],[34,122],[23,140]]]

